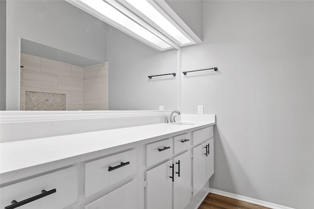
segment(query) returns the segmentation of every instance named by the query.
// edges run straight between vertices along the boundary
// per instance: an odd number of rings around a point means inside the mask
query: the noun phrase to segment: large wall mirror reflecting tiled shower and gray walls
[[[148,46],[64,0],[7,8],[10,110],[177,109],[178,76],[148,77],[177,73],[177,49]]]

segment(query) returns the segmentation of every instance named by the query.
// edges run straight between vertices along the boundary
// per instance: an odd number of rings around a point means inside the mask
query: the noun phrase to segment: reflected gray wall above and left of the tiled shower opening
[[[105,62],[105,23],[64,0],[7,1],[7,110],[19,109],[20,38]]]

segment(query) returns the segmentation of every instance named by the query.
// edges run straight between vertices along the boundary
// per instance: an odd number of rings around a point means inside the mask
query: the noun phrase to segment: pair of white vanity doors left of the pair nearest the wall
[[[189,151],[146,171],[146,209],[183,209],[191,197]]]

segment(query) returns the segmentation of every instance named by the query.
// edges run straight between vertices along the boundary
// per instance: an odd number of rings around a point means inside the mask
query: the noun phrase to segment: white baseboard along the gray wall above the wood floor
[[[271,208],[271,209],[293,209],[293,208],[289,208],[287,206],[281,206],[278,204],[274,204],[274,203],[269,203],[266,201],[262,201],[262,200],[257,200],[254,198],[250,198],[250,197],[245,197],[242,195],[238,195],[238,194],[234,194],[234,193],[230,193],[230,192],[226,192],[226,191],[221,191],[221,190],[217,190],[217,189],[213,189],[213,188],[208,188],[209,193],[213,193],[213,194],[218,194],[224,197],[230,197],[236,200],[241,200],[244,202],[248,202],[248,203],[252,203],[252,204],[256,204],[259,206],[264,206],[267,208]]]

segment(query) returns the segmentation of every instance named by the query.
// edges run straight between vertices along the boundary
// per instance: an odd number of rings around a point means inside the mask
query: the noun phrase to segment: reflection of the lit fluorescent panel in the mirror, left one
[[[142,37],[151,44],[158,46],[161,49],[172,48],[168,43],[161,40],[154,33],[147,30],[140,24],[134,22],[129,17],[121,13],[119,10],[105,2],[104,0],[80,0],[90,8],[104,15],[106,18],[112,20],[115,23],[125,27],[132,33]]]

